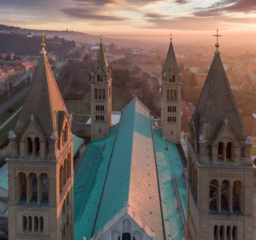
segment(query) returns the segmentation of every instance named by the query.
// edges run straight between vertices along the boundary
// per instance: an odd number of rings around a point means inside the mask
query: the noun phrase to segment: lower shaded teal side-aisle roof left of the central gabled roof
[[[117,126],[109,137],[91,142],[74,176],[74,239],[90,239],[113,149]],[[100,154],[100,145],[103,153]]]

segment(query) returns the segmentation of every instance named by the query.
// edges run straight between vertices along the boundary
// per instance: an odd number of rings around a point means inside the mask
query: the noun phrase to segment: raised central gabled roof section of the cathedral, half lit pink
[[[102,229],[125,202],[163,239],[150,113],[139,100],[132,101],[122,111],[93,234]]]

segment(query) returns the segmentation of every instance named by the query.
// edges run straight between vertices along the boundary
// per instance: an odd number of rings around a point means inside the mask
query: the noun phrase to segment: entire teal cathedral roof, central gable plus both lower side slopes
[[[99,154],[101,144],[105,150]],[[75,240],[90,239],[125,203],[151,229],[151,236],[183,239],[172,177],[182,205],[186,183],[177,147],[167,144],[169,150],[161,129],[151,124],[150,112],[136,98],[122,111],[118,128],[90,143],[74,177]]]

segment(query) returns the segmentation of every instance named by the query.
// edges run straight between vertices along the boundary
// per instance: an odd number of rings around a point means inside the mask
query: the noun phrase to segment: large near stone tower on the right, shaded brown
[[[189,240],[253,240],[253,166],[219,44],[189,119]]]

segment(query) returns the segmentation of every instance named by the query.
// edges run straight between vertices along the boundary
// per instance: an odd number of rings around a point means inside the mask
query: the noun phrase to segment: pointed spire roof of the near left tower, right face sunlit
[[[43,44],[29,92],[15,126],[15,134],[18,135],[23,134],[29,125],[31,115],[38,120],[47,138],[52,132],[58,132],[59,111],[64,111],[65,104],[48,63],[44,46]]]

